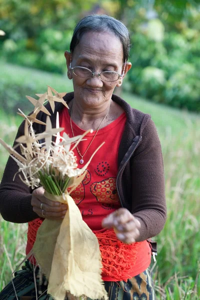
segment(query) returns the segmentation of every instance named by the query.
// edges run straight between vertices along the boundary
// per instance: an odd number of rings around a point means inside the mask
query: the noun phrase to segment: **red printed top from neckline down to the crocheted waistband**
[[[74,199],[76,205],[80,209],[82,219],[87,223],[91,230],[102,229],[102,219],[121,207],[117,190],[116,190],[116,174],[117,174],[117,158],[119,142],[125,126],[125,112],[109,125],[98,130],[89,149],[83,156],[86,163],[95,149],[104,141],[104,145],[96,152],[87,167],[87,173],[82,182],[73,190],[70,196]],[[73,121],[72,128],[74,135],[83,134],[85,131],[79,128]],[[60,126],[64,127],[65,132],[72,137],[70,127],[70,117],[68,109],[63,109],[60,116]],[[80,141],[78,150],[84,153],[88,144],[92,140],[96,131],[88,133],[86,140]],[[61,132],[62,135],[63,131]],[[75,148],[74,154],[77,157],[78,167],[83,164],[79,163],[80,155]]]

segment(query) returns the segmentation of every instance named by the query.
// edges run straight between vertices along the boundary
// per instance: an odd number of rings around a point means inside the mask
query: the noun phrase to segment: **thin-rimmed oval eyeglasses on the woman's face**
[[[113,82],[118,80],[120,77],[122,77],[124,75],[124,68],[125,68],[125,64],[123,67],[123,72],[122,75],[120,75],[117,72],[114,71],[102,71],[102,72],[92,72],[90,69],[88,69],[87,67],[84,66],[74,66],[71,67],[71,63],[69,65],[69,67],[72,69],[73,74],[81,77],[81,78],[90,78],[90,77],[94,77],[95,75],[97,77],[100,77],[103,81],[107,81],[107,82]]]

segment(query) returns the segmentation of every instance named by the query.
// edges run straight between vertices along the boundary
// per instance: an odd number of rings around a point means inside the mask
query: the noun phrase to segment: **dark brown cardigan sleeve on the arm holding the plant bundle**
[[[23,127],[24,122],[19,126],[16,138],[23,135]],[[19,146],[15,150],[20,153]],[[38,215],[32,210],[31,191],[21,181],[17,171],[17,163],[9,156],[0,183],[0,214],[6,221],[24,223]],[[17,174],[13,180],[15,173]]]

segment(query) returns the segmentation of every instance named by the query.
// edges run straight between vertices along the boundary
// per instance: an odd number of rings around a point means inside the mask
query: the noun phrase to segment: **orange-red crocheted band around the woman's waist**
[[[36,239],[37,229],[42,223],[42,219],[37,218],[28,222],[27,240],[33,246]],[[142,242],[125,244],[118,240],[113,229],[104,232],[93,231],[96,235],[102,259],[102,277],[112,277],[116,281],[131,278],[138,249]]]

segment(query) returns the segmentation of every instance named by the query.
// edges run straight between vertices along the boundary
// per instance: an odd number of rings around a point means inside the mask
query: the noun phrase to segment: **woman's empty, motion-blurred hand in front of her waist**
[[[124,243],[132,243],[137,240],[140,226],[139,220],[123,207],[102,220],[102,227],[113,227],[118,239]]]

